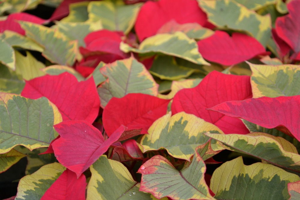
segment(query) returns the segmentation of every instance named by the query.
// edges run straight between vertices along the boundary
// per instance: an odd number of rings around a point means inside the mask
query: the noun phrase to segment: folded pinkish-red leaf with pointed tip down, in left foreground
[[[62,165],[76,173],[77,178],[125,131],[121,126],[104,141],[100,131],[86,121],[64,121],[54,128],[61,136],[52,144],[54,154]]]

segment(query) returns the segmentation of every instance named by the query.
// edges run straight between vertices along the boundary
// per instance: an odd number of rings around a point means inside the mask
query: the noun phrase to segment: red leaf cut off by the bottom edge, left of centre
[[[85,175],[82,174],[77,179],[74,172],[66,169],[46,190],[41,200],[85,200],[85,187]]]

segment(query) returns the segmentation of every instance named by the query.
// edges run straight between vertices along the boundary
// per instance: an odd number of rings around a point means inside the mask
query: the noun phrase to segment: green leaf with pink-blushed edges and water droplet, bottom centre
[[[156,198],[170,197],[176,200],[214,199],[204,180],[206,167],[197,153],[191,163],[177,171],[165,157],[152,157],[138,172],[142,174],[140,190],[153,194]]]

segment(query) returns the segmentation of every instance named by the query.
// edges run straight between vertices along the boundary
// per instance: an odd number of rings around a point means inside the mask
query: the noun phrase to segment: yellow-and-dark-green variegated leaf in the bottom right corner
[[[242,157],[238,157],[214,171],[210,189],[216,199],[288,199],[287,184],[299,179],[266,163],[246,166]]]

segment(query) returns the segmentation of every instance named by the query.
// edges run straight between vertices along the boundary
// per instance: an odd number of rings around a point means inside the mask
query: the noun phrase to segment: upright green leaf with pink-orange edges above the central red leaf
[[[103,108],[112,97],[121,98],[129,93],[158,94],[158,84],[133,57],[107,64],[100,71],[107,78],[97,89]]]

